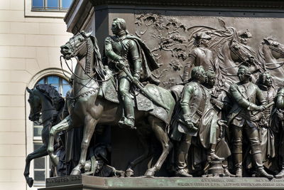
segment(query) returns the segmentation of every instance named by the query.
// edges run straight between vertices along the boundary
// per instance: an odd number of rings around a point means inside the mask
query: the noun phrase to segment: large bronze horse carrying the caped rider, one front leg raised
[[[53,153],[55,135],[62,130],[70,130],[73,127],[82,127],[83,125],[80,162],[72,170],[71,175],[81,174],[81,169],[84,169],[87,149],[96,125],[117,127],[122,115],[122,105],[119,104],[119,95],[117,95],[114,87],[115,83],[112,82],[112,76],[108,74],[110,70],[106,70],[106,67],[104,68],[102,65],[97,39],[90,34],[82,31],[70,38],[70,41],[65,43],[64,46],[61,46],[63,58],[76,58],[77,65],[73,73],[72,93],[67,101],[70,102],[68,104],[70,115],[50,130],[48,153],[50,159],[57,164],[58,157]],[[135,121],[137,131],[142,128],[145,130],[146,127],[153,130],[153,134],[163,148],[158,161],[145,173],[145,176],[154,176],[155,171],[160,169],[172,147],[167,129],[175,106],[175,100],[170,91],[156,85],[148,84],[145,86],[145,90],[159,98],[164,107],[168,107],[168,110],[166,110],[159,105],[155,105],[147,97],[143,96],[143,93],[136,97]],[[141,96],[141,100],[138,100],[138,96]],[[129,167],[142,162],[147,157],[147,154],[143,154],[131,162],[132,164]]]

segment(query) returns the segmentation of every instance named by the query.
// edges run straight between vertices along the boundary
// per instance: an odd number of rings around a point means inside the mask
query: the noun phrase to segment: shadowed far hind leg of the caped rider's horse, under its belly
[[[129,163],[126,169],[127,177],[133,176],[134,174],[133,168],[136,167],[137,164],[143,162],[145,159],[148,159],[148,157],[152,155],[152,152],[150,152],[150,146],[149,146],[150,144],[147,141],[148,139],[146,137],[147,134],[140,132],[139,127],[137,128],[137,132],[138,132],[138,139],[141,142],[141,146],[143,147],[144,152],[140,157],[134,159],[132,162]]]

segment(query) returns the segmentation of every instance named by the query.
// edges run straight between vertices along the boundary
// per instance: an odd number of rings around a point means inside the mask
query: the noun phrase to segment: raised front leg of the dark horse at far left
[[[26,183],[28,184],[29,187],[33,186],[33,178],[29,177],[31,161],[36,158],[47,156],[48,152],[46,150],[47,150],[47,147],[45,144],[43,144],[42,147],[40,147],[39,149],[36,149],[31,154],[28,154],[28,156],[26,157],[26,167],[25,167],[25,171],[23,172],[23,176],[25,176]]]

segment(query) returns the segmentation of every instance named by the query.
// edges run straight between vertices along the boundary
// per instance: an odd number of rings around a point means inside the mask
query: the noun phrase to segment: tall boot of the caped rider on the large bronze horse
[[[123,128],[129,128],[131,130],[136,130],[134,126],[134,107],[133,100],[131,97],[125,95],[123,97],[124,101],[124,117],[119,120],[119,126]]]

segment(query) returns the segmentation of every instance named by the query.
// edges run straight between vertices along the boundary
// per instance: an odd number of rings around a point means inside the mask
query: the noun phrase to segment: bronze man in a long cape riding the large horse
[[[109,65],[119,81],[119,94],[124,105],[124,114],[119,125],[135,129],[133,100],[129,93],[131,82],[148,80],[158,85],[159,81],[155,80],[151,71],[159,65],[141,39],[129,34],[124,19],[114,19],[111,31],[114,36],[109,36],[104,41],[104,64]],[[122,70],[124,67],[133,75],[134,81]]]

